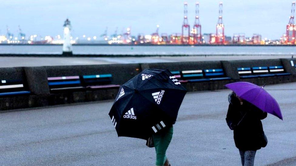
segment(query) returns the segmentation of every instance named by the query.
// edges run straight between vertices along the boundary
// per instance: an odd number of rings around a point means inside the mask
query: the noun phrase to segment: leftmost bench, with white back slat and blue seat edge
[[[0,96],[24,95],[31,92],[26,90],[22,80],[0,80]]]

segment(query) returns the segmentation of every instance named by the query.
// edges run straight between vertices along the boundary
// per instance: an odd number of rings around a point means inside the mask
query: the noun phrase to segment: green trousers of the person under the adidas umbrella
[[[156,151],[156,163],[155,165],[164,165],[167,160],[166,151],[170,145],[173,137],[173,126],[163,131],[157,132],[153,135],[153,142]]]

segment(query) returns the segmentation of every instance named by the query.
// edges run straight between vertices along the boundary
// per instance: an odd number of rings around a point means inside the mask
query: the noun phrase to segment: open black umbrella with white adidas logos
[[[172,125],[187,90],[165,69],[147,69],[123,84],[109,112],[118,136],[147,139]]]

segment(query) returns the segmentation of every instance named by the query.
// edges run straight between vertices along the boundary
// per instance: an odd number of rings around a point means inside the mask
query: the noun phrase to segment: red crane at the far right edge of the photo
[[[295,14],[295,2],[292,2],[290,20],[286,26],[286,44],[295,44],[296,27],[294,22],[294,14]]]

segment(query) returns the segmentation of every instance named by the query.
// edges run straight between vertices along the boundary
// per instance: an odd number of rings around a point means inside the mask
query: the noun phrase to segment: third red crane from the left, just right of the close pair
[[[222,15],[223,15],[222,8],[223,8],[223,3],[220,2],[219,3],[219,18],[218,18],[218,22],[216,25],[215,44],[224,44],[225,43],[224,24],[223,24],[223,20],[222,20]]]

